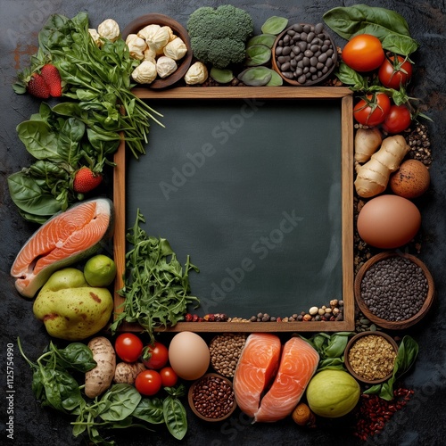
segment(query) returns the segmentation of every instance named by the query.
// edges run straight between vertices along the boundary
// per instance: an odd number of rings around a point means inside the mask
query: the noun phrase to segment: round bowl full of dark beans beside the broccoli
[[[322,23],[296,23],[285,29],[273,45],[273,69],[286,82],[310,86],[322,82],[337,62],[337,50]]]

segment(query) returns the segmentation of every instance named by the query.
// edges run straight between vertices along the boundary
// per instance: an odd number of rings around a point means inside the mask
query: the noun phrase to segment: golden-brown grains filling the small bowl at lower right
[[[349,362],[353,371],[374,381],[388,376],[395,364],[396,351],[383,336],[366,335],[351,345]]]

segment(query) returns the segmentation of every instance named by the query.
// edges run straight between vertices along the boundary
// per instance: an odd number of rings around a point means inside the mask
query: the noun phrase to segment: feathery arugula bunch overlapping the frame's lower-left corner
[[[145,223],[145,218],[138,209],[135,225],[127,234],[128,242],[133,245],[126,253],[128,276],[118,291],[125,300],[111,332],[124,320],[137,322],[153,343],[156,327],[175,326],[183,320],[189,303],[198,304],[198,298],[189,295],[189,271],[199,272],[199,269],[190,262],[189,256],[183,269],[169,242],[148,236],[141,223]]]

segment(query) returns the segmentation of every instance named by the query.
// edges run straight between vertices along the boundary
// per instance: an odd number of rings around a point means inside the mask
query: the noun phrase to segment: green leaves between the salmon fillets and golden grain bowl
[[[343,362],[343,352],[352,335],[354,335],[353,332],[337,332],[333,335],[318,333],[312,335],[309,339],[303,336],[301,338],[318,351],[320,359],[317,371],[320,372],[327,368],[346,370]]]

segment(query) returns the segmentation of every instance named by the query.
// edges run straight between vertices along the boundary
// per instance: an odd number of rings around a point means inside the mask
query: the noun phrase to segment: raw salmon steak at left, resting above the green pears
[[[96,252],[112,235],[113,203],[107,198],[79,202],[55,214],[29,237],[11,268],[15,287],[34,297],[56,269]]]

